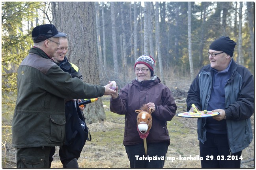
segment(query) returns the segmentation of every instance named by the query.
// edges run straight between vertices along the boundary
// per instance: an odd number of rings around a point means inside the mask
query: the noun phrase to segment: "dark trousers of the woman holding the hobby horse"
[[[131,168],[163,168],[164,159],[168,150],[168,142],[148,143],[147,155],[145,155],[144,144],[125,145],[125,150],[130,161]],[[160,158],[160,160],[142,160]]]

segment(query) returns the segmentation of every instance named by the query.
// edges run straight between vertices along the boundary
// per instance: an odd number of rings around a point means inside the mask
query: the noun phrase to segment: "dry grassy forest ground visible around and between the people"
[[[169,87],[188,90],[190,82],[185,80],[174,80]],[[170,88],[171,89],[171,88]],[[172,89],[171,89],[172,90]],[[173,90],[172,90],[173,91]],[[173,91],[176,98],[178,110],[176,113],[186,112],[185,97],[182,91]],[[88,124],[92,135],[92,141],[87,141],[78,164],[80,168],[129,168],[129,160],[123,146],[124,115],[110,112],[110,96],[101,97],[106,113],[106,120]],[[15,149],[11,146],[11,120],[12,114],[3,114],[6,108],[2,107],[2,168],[13,168],[16,166]],[[251,117],[252,130],[254,134],[254,115]],[[164,168],[200,168],[200,161],[167,160],[167,157],[196,157],[199,155],[199,142],[197,140],[197,119],[182,118],[174,116],[168,121],[170,135],[170,146],[166,154]],[[243,161],[241,168],[254,168],[254,139],[248,148],[242,152]],[[54,155],[52,168],[62,168],[58,156],[58,148]]]

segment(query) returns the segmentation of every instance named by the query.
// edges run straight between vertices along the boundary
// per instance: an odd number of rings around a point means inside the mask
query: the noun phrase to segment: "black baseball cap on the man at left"
[[[52,24],[43,24],[34,27],[32,39],[34,43],[44,41],[50,37],[65,37],[67,34],[59,32]]]

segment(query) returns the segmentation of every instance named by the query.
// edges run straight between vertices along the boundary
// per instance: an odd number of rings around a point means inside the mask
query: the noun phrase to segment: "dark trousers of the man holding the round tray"
[[[231,154],[226,134],[207,132],[206,139],[199,142],[202,168],[240,168],[242,151]]]

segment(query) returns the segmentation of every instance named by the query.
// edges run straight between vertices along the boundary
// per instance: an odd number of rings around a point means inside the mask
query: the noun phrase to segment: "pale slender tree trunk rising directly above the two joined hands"
[[[111,10],[111,25],[112,25],[114,77],[118,78],[118,58],[117,58],[117,45],[116,45],[115,2],[110,2],[110,10]]]

